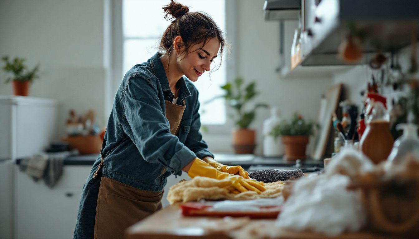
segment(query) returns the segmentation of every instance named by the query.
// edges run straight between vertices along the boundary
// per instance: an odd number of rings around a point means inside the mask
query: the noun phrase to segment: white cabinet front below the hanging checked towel
[[[91,166],[64,166],[54,188],[16,172],[16,238],[72,238],[80,195]]]

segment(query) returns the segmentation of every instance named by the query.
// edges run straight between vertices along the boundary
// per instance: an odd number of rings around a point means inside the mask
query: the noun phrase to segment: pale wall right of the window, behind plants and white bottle
[[[237,3],[237,36],[236,42],[231,42],[231,48],[237,57],[236,75],[257,82],[256,89],[261,94],[254,102],[277,106],[282,118],[290,118],[295,111],[307,118],[318,118],[321,95],[331,86],[331,79],[280,79],[279,72],[276,72],[279,65],[279,21],[264,21],[264,0],[240,0]],[[292,36],[294,29],[289,26],[293,24],[286,23],[287,33]],[[287,38],[285,48],[290,49],[292,42],[289,35]],[[268,109],[259,108],[256,120],[251,124],[251,128],[257,131],[256,154],[262,154],[262,123],[269,114]],[[204,139],[213,151],[233,152],[230,131],[217,136],[207,134]]]

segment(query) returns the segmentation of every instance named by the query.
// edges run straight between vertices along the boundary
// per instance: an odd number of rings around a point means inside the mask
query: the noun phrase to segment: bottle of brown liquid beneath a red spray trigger
[[[360,140],[361,151],[375,164],[387,159],[393,147],[390,122],[386,108],[380,101],[370,102],[372,106],[367,128]],[[369,111],[367,111],[369,112]]]

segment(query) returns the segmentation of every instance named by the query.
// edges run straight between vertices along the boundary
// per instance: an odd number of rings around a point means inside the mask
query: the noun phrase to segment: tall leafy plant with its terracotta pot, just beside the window
[[[250,111],[245,110],[247,105],[259,93],[255,91],[256,82],[250,82],[243,86],[243,79],[236,78],[232,83],[227,83],[221,86],[225,91],[224,95],[216,98],[224,98],[228,105],[235,110],[235,113],[230,113],[230,118],[233,119],[237,128],[233,129],[233,147],[236,154],[252,154],[256,146],[255,131],[249,129],[249,125],[255,118],[256,109],[259,107],[268,107],[267,104],[258,103],[253,106]],[[214,98],[215,99],[215,98]],[[213,99],[213,100],[214,100]]]

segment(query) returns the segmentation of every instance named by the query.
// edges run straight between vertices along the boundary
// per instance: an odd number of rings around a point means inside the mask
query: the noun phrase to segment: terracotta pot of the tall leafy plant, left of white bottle
[[[255,131],[246,128],[234,129],[233,147],[236,154],[253,154],[255,149]]]

